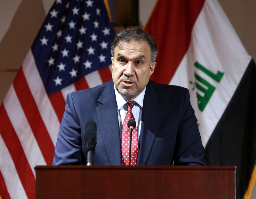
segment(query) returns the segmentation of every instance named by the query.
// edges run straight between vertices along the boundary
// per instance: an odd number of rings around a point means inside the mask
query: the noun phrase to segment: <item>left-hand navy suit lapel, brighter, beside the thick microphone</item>
[[[109,82],[98,99],[96,108],[100,125],[100,134],[107,151],[110,165],[121,165],[121,144],[118,125],[116,95],[113,81]]]

